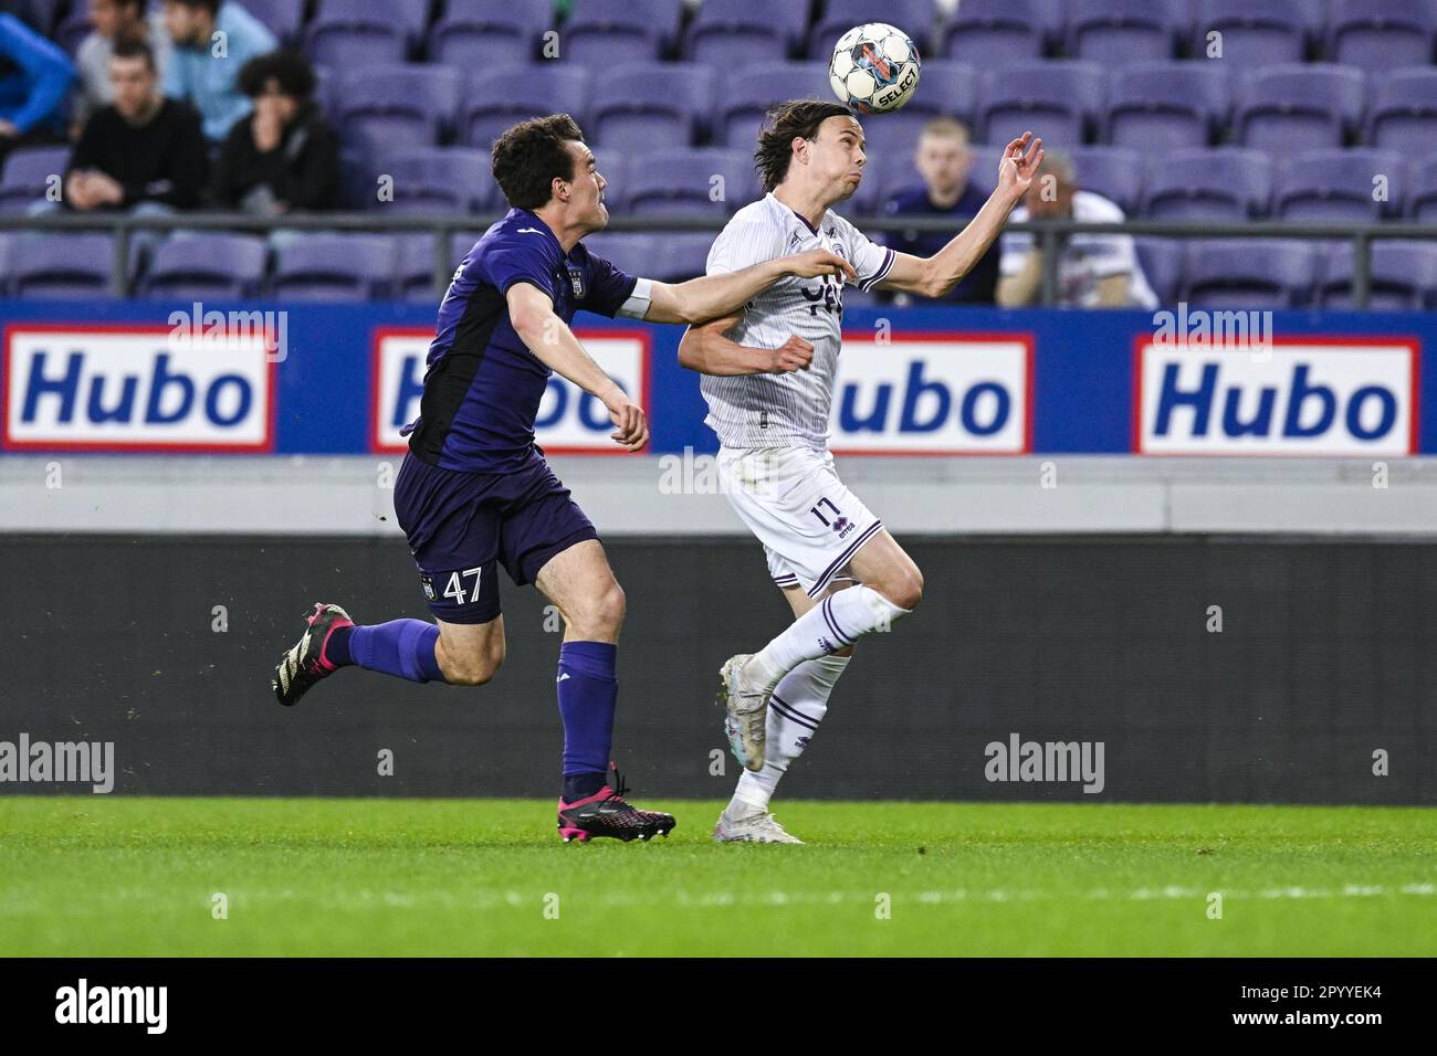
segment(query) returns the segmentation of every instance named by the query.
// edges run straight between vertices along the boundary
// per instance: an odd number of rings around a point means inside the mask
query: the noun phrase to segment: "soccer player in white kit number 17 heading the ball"
[[[874,244],[831,211],[864,177],[864,129],[852,111],[782,103],[754,151],[766,194],[714,240],[708,274],[826,249],[854,266],[859,289],[943,296],[997,237],[1042,157],[1032,132],[1010,142],[979,214],[938,253],[915,257]],[[720,672],[729,741],[744,766],[714,828],[720,842],[802,842],[769,813],[773,790],[818,730],[855,642],[887,631],[923,598],[918,566],[844,486],[828,450],[842,295],[835,277],[783,279],[741,313],[691,326],[680,345],[680,362],[704,375],[704,421],[718,434],[724,493],[763,543],[796,618]]]

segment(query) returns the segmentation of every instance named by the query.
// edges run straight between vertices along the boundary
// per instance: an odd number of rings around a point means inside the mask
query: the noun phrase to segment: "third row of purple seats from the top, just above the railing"
[[[970,181],[993,184],[1002,148],[974,147]],[[1144,154],[1128,147],[1071,151],[1078,184],[1114,201],[1129,217],[1239,221],[1437,220],[1437,155],[1408,162],[1395,151],[1303,151],[1277,165],[1262,151],[1216,147]],[[0,170],[0,213],[42,201],[66,148],[14,151]],[[372,171],[368,171],[372,168]],[[609,208],[621,216],[724,217],[762,197],[746,151],[691,147],[624,155],[599,154]],[[489,155],[467,147],[392,151],[346,174],[354,208],[394,213],[496,213],[507,208]],[[379,178],[389,194],[379,197]],[[1381,178],[1381,185],[1375,182]],[[887,198],[915,187],[907,154],[879,154],[865,167],[849,216],[882,213]],[[1377,193],[1381,191],[1381,193]]]

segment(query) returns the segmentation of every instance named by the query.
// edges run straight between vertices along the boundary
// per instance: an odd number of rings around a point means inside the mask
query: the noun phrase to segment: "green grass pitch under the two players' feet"
[[[785,802],[806,846],[717,846],[720,803],[644,806],[670,839],[565,845],[552,800],[6,796],[0,955],[1437,954],[1431,809]]]

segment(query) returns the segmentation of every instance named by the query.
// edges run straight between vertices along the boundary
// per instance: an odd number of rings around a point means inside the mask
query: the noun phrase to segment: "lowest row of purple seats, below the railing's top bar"
[[[456,234],[457,263],[477,233]],[[713,234],[605,233],[588,244],[621,269],[660,280],[701,274]],[[0,295],[93,299],[109,287],[112,240],[106,234],[66,238],[0,236]],[[430,236],[323,234],[274,243],[259,236],[181,233],[160,243],[142,273],[137,296],[157,300],[369,300],[398,297],[434,302],[434,246]],[[138,259],[138,254],[134,254]],[[1226,307],[1346,307],[1352,292],[1348,243],[1296,240],[1140,238],[1138,256],[1164,303]],[[1437,244],[1377,241],[1372,246],[1374,309],[1437,309]],[[845,292],[849,306],[874,303]]]

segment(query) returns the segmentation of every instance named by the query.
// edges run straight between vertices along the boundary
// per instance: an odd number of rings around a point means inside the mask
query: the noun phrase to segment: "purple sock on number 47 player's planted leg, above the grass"
[[[559,647],[559,715],[563,718],[563,799],[592,796],[604,787],[614,746],[614,675],[618,647],[565,642]]]

